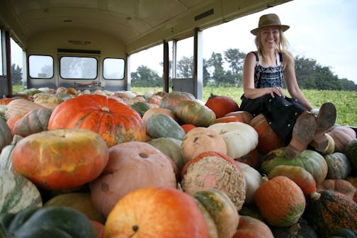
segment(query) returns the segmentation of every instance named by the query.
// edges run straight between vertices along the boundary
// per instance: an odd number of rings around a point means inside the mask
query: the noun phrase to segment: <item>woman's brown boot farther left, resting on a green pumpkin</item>
[[[296,120],[293,135],[285,149],[285,156],[293,159],[301,154],[310,144],[317,129],[317,120],[312,113],[303,112]]]

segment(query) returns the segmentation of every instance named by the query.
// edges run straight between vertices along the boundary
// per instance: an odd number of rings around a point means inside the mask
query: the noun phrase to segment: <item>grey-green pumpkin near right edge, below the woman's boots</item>
[[[324,156],[328,170],[327,179],[346,179],[352,170],[351,163],[346,157],[346,154],[334,152]]]

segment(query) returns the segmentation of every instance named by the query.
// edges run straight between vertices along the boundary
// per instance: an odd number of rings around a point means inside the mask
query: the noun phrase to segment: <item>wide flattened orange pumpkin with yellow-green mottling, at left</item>
[[[96,132],[45,130],[24,137],[11,154],[13,169],[45,190],[82,186],[108,162],[108,147]]]

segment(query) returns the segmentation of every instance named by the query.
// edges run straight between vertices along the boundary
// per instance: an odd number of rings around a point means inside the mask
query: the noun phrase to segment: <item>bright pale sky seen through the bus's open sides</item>
[[[330,67],[340,79],[346,78],[357,84],[356,11],[356,0],[289,1],[203,30],[203,58],[208,60],[212,52],[223,55],[229,48],[246,53],[256,50],[254,35],[251,35],[250,30],[258,26],[261,15],[276,13],[282,24],[290,26],[285,36],[293,55],[314,59],[322,67]],[[192,56],[193,38],[179,41],[177,47],[177,60],[183,56]],[[131,72],[135,72],[138,66],[145,65],[161,75],[162,48],[159,45],[132,55]],[[11,54],[19,55],[11,59],[22,67],[21,49],[13,46]]]

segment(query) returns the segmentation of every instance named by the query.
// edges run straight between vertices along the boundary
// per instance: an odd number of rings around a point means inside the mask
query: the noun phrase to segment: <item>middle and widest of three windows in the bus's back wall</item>
[[[98,63],[94,57],[61,57],[60,75],[63,79],[96,79]]]

